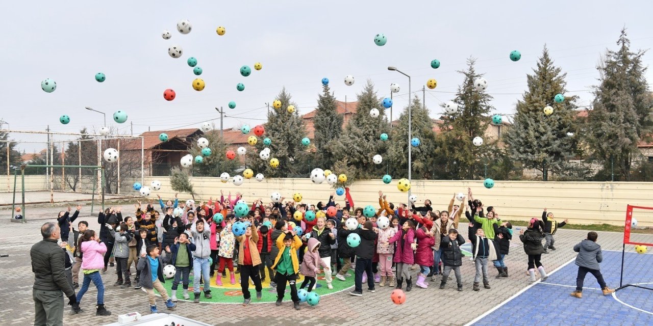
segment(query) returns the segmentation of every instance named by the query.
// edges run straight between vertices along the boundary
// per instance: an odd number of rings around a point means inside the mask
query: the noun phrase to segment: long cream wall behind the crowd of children
[[[168,177],[146,177],[144,185],[151,181],[161,181],[162,198],[173,198]],[[123,181],[123,194],[129,194],[128,186],[137,180]],[[196,200],[219,198],[220,190],[225,196],[241,192],[251,202],[263,198],[267,203],[270,193],[278,191],[287,200],[295,192],[300,192],[305,203],[326,203],[330,192],[334,190],[327,183],[313,185],[306,179],[266,179],[259,183],[255,179],[246,180],[241,186],[221,183],[217,177],[192,177],[191,181],[198,193]],[[351,195],[357,207],[378,205],[378,191],[383,190],[393,203],[406,203],[407,194],[399,192],[396,181],[384,185],[380,180],[358,181],[351,186]],[[475,199],[483,201],[485,206],[496,207],[497,213],[504,220],[529,220],[540,217],[542,209],[547,207],[556,218],[569,218],[574,224],[608,223],[623,225],[626,217],[626,205],[653,207],[653,183],[593,183],[593,182],[537,182],[537,181],[497,181],[492,189],[483,187],[482,181],[413,181],[412,192],[421,203],[429,199],[438,210],[447,209],[454,192],[467,193],[470,187]],[[151,198],[156,198],[152,192]],[[180,194],[181,199],[190,198]],[[336,201],[344,204],[344,196],[336,196]],[[635,216],[637,218],[637,216]],[[639,226],[653,227],[653,211],[650,216],[639,216]]]

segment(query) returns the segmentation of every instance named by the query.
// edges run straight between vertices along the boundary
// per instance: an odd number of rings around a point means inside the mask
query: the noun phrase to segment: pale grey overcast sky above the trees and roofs
[[[249,5],[255,3],[256,5]],[[421,3],[421,5],[417,5]],[[616,48],[620,29],[628,27],[633,48],[653,47],[649,1],[623,4],[614,1],[10,1],[0,10],[0,119],[12,130],[76,132],[84,126],[108,125],[116,110],[129,114],[122,132],[199,127],[219,117],[223,106],[225,128],[263,123],[266,102],[285,86],[300,113],[316,105],[321,79],[329,78],[338,100],[354,101],[367,79],[379,96],[389,96],[389,85],[402,87],[395,111],[407,103],[407,78],[387,70],[389,65],[412,76],[413,92],[429,78],[438,80],[426,92],[431,116],[439,104],[453,98],[466,59],[477,59],[485,73],[488,93],[497,113],[513,113],[515,102],[547,44],[555,64],[567,72],[567,89],[579,95],[579,105],[592,98],[596,64],[606,48]],[[193,30],[176,31],[187,19]],[[218,36],[217,26],[227,33]],[[163,30],[172,33],[161,38]],[[384,33],[385,46],[374,44]],[[183,48],[173,59],[167,49]],[[509,60],[519,50],[518,62]],[[204,70],[204,91],[191,87],[196,57]],[[653,53],[644,57],[652,62]],[[430,67],[439,59],[441,67]],[[242,77],[239,68],[255,62],[263,70]],[[95,73],[106,82],[95,81]],[[347,86],[343,78],[355,76]],[[648,72],[651,81],[651,72]],[[44,78],[57,82],[54,93],[40,89]],[[236,90],[244,83],[245,91]],[[172,102],[163,91],[172,88]],[[403,95],[403,96],[402,96]],[[237,106],[227,108],[229,101]],[[61,125],[67,114],[71,123]],[[395,118],[398,115],[395,113]],[[215,120],[219,126],[219,119]],[[6,128],[7,125],[4,125]],[[13,136],[20,138],[22,136]]]

